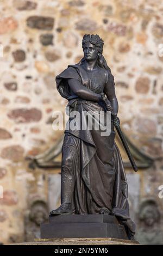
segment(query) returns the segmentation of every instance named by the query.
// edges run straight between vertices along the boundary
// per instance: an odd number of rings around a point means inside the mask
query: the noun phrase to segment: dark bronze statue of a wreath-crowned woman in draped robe
[[[68,100],[71,111],[89,113],[114,111],[111,132],[101,136],[102,127],[92,130],[65,130],[61,162],[61,205],[51,216],[63,214],[115,215],[124,224],[129,239],[135,234],[135,224],[129,217],[128,185],[120,151],[115,143],[114,126],[118,102],[114,76],[103,56],[104,41],[98,35],[83,38],[84,57],[76,65],[56,77],[60,95]],[[106,95],[108,101],[104,96]],[[105,104],[106,103],[106,104]],[[106,108],[107,105],[107,108]],[[107,110],[107,111],[106,111]],[[73,118],[69,118],[71,124]],[[86,121],[86,120],[85,120]]]

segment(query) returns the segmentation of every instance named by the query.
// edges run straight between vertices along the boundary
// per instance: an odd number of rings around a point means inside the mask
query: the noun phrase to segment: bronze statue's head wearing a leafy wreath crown
[[[103,53],[103,45],[104,41],[99,37],[99,35],[85,34],[82,41],[84,58],[86,60],[100,58]]]

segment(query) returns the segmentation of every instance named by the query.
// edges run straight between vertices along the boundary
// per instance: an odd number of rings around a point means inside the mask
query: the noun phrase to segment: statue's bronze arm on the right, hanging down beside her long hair
[[[118,113],[118,101],[115,94],[115,83],[114,76],[111,74],[110,70],[106,71],[107,79],[104,86],[104,93],[106,94],[108,100],[111,102],[111,106],[113,108],[114,113],[117,115]]]

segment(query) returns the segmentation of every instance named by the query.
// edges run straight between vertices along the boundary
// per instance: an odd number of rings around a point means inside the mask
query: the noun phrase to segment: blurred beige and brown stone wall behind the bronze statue
[[[99,34],[139,167],[134,173],[117,137],[136,239],[163,244],[163,2],[0,0],[0,13],[0,242],[39,237],[60,205],[64,131],[52,129],[52,113],[67,100],[55,76],[83,57],[84,34]]]

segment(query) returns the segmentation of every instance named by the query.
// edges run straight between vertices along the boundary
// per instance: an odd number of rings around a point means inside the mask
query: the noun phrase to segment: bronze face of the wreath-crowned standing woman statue
[[[90,42],[86,42],[83,48],[85,60],[97,60],[98,51],[96,50],[95,45],[92,45]]]

